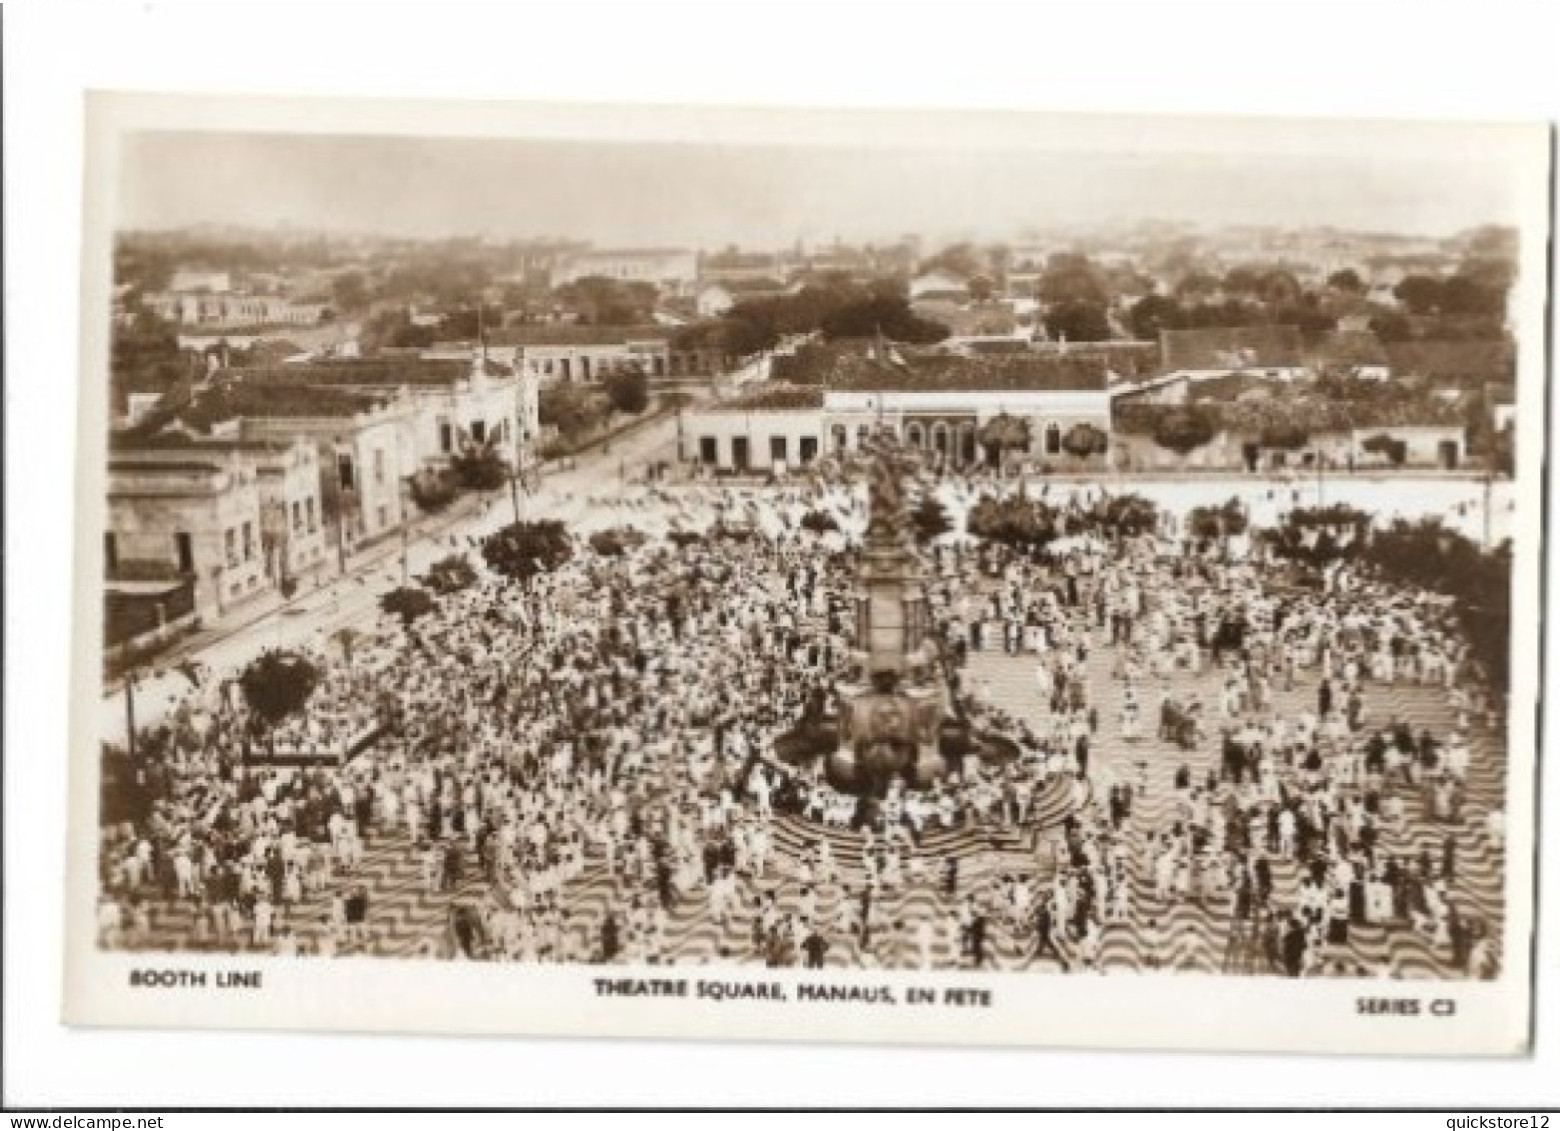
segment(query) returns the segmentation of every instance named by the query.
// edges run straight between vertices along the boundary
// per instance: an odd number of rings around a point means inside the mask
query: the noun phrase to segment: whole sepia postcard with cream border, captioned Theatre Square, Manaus
[[[1541,126],[402,109],[89,103],[67,1020],[1523,1051]]]

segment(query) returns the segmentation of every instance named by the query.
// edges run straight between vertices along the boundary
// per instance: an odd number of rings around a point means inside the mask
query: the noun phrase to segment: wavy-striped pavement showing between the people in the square
[[[702,499],[708,498],[713,488],[697,490],[702,491],[697,496]],[[1457,498],[1446,505],[1462,505],[1463,495],[1474,496],[1476,491],[1466,484],[1459,484]],[[666,498],[675,496],[677,491],[672,491]],[[763,498],[763,491],[750,490],[744,498]],[[956,512],[958,496],[952,501]],[[672,512],[660,509],[654,501],[626,509],[621,502],[605,498],[593,501],[585,496],[571,499],[571,504],[576,505],[583,529],[636,521],[658,535],[675,521]],[[785,524],[780,510],[764,510],[761,518],[772,526]],[[846,518],[849,529],[849,515]],[[980,688],[991,705],[1002,711],[1034,727],[1047,724],[1050,705],[1041,691],[1034,655],[1006,655],[1000,649],[972,652],[963,679],[966,688]],[[1204,733],[1189,750],[1162,741],[1154,733],[1153,719],[1140,729],[1142,736],[1123,735],[1123,682],[1112,671],[1112,649],[1106,632],[1098,626],[1090,627],[1084,679],[1090,707],[1098,714],[1098,732],[1092,743],[1083,803],[1103,805],[1106,792],[1115,785],[1129,785],[1136,794],[1131,816],[1122,830],[1125,842],[1131,846],[1125,856],[1128,889],[1122,897],[1126,913],[1109,916],[1101,924],[1097,955],[1089,966],[1104,973],[1276,972],[1276,956],[1271,942],[1260,938],[1260,924],[1242,927],[1234,922],[1231,894],[1156,897],[1153,849],[1147,833],[1175,825],[1184,802],[1176,785],[1178,774],[1186,775],[1189,771],[1190,777],[1200,782],[1218,771],[1217,729],[1215,733]],[[1181,702],[1197,696],[1212,704],[1218,699],[1221,679],[1223,671],[1218,666],[1204,666],[1195,675],[1175,669],[1165,679],[1151,677],[1147,682],[1147,699],[1153,702],[1159,691],[1167,691]],[[1292,690],[1276,686],[1275,713],[1289,716],[1314,710],[1318,680],[1315,669],[1303,669]],[[1446,688],[1438,683],[1402,679],[1365,680],[1362,699],[1365,730],[1384,729],[1401,719],[1415,733],[1429,732],[1440,736],[1449,733],[1455,724],[1457,708],[1449,700]],[[1502,805],[1505,757],[1502,738],[1485,719],[1471,719],[1468,738],[1471,760],[1462,819],[1455,825],[1437,821],[1423,791],[1407,783],[1390,786],[1388,792],[1396,792],[1402,799],[1402,817],[1396,824],[1382,827],[1379,852],[1404,860],[1421,856],[1434,860],[1437,869],[1443,869],[1445,861],[1454,860],[1455,866],[1446,877],[1446,897],[1457,903],[1465,917],[1476,917],[1488,927],[1488,947],[1493,953],[1499,953],[1502,844],[1493,831],[1499,822],[1491,822],[1490,814],[1498,813]],[[1078,797],[1072,794],[1070,786],[1058,778],[1039,802],[1041,808],[1051,805],[1055,813],[1047,819],[1031,821],[1026,828],[963,825],[927,833],[911,856],[911,877],[874,892],[877,922],[881,928],[831,930],[822,964],[828,967],[969,966],[970,959],[961,947],[959,934],[947,925],[956,920],[964,902],[970,899],[984,902],[1003,880],[1017,878],[1044,889],[1055,875],[1058,855],[1064,850],[1061,821],[1076,803]],[[856,892],[864,883],[861,833],[827,827],[800,814],[777,813],[771,817],[771,835],[774,853],[769,867],[761,878],[741,880],[741,899],[735,902],[724,924],[714,920],[702,892],[671,900],[661,930],[661,961],[761,963],[764,953],[757,941],[760,931],[753,930],[753,920],[760,914],[774,914],[775,908],[782,916],[802,914],[803,903],[808,903],[805,911],[821,922],[835,924],[849,919],[844,903],[858,899]],[[412,844],[399,824],[370,821],[362,828],[362,841],[356,866],[343,869],[335,883],[324,891],[306,892],[290,908],[279,911],[276,930],[292,930],[301,952],[324,950],[339,955],[395,958],[451,956],[459,950],[457,931],[452,930],[456,919],[477,911],[487,914],[504,906],[507,897],[502,888],[490,883],[476,864],[465,867],[454,883],[435,889],[438,885],[431,885],[427,880],[426,849]],[[819,885],[816,892],[805,894],[803,889],[810,885],[805,878],[799,878],[799,870],[808,850],[819,841],[828,841],[831,856],[841,869],[841,881]],[[958,880],[952,885],[944,880],[944,869],[950,860],[958,861]],[[1295,894],[1301,866],[1281,858],[1275,858],[1273,864],[1275,899],[1284,905]],[[360,897],[367,895],[367,920],[365,930],[340,934],[331,927],[332,917],[340,914],[339,908],[332,908],[332,900],[348,888],[357,889]],[[590,847],[583,866],[557,894],[557,905],[562,908],[557,952],[549,948],[532,955],[532,959],[579,961],[590,956],[599,944],[604,920],[621,903],[621,895],[610,863],[594,846]],[[761,911],[769,897],[772,897],[771,909]],[[147,914],[145,930],[128,933],[123,945],[159,952],[271,948],[256,944],[246,931],[226,939],[215,938],[209,917],[193,899],[151,899]],[[984,955],[987,969],[1059,970],[1064,964],[1069,970],[1078,969],[1076,941],[1064,942],[1058,952],[1036,958],[1028,922],[1016,922],[995,911],[989,919]],[[934,927],[922,928],[922,924]],[[1415,930],[1407,922],[1354,922],[1346,941],[1329,942],[1320,963],[1307,972],[1392,973],[1406,978],[1466,977],[1466,967],[1455,959],[1454,950],[1445,939]]]

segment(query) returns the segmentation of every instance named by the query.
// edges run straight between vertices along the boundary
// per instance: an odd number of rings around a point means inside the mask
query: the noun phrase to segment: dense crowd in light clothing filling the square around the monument
[[[992,485],[925,488],[958,513]],[[839,534],[800,527],[819,509]],[[1465,805],[1490,708],[1421,594],[1279,585],[1170,518],[1059,552],[950,537],[925,569],[952,702],[1011,757],[864,805],[774,757],[850,661],[853,485],[658,485],[619,518],[652,537],[321,641],[279,738],[334,757],[275,764],[242,696],[193,690],[103,828],[103,944],[184,905],[190,945],[381,953],[363,860],[393,844],[449,897],[426,955],[1100,969],[1129,931],[1175,966],[1198,905],[1250,970],[1356,973],[1351,930],[1387,925],[1493,972],[1490,909],[1459,895],[1499,839]],[[1033,700],[981,674],[998,654]],[[1440,688],[1452,725],[1384,714],[1393,685]]]

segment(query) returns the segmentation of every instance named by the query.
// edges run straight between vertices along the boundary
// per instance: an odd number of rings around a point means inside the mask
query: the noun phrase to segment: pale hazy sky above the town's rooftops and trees
[[[1423,150],[1104,153],[304,134],[125,139],[120,225],[292,225],[780,246],[1167,218],[1451,234],[1515,223],[1510,165]]]

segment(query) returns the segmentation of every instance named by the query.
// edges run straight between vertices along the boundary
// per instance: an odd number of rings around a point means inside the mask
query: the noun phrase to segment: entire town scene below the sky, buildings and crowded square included
[[[1499,978],[1516,229],[771,243],[119,234],[97,945]]]

